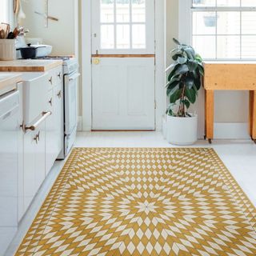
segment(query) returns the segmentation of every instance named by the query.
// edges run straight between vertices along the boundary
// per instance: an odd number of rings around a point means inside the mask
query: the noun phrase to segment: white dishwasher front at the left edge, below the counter
[[[18,228],[19,92],[0,96],[0,255]]]

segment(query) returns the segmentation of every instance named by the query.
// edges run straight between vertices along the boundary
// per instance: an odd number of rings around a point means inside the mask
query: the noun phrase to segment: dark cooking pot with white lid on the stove
[[[17,50],[20,51],[22,58],[40,58],[46,57],[51,53],[52,46],[47,45],[31,45],[20,47]]]

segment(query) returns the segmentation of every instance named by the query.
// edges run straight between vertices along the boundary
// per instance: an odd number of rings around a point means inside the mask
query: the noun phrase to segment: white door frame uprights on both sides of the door
[[[81,1],[81,54],[82,54],[82,130],[92,129],[92,1]],[[155,119],[156,130],[162,130],[162,116],[165,114],[165,1],[155,0]],[[83,33],[87,31],[87,33]]]

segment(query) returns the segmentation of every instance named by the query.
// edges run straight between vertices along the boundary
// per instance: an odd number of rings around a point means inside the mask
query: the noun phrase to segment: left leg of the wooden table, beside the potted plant
[[[206,90],[206,138],[214,138],[214,90]]]

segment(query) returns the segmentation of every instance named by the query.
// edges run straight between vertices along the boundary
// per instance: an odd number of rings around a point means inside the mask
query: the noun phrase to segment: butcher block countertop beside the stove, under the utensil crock
[[[46,72],[56,66],[61,66],[62,60],[17,59],[0,61],[2,72]]]

